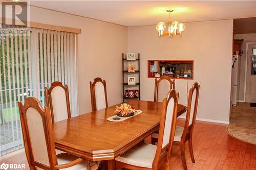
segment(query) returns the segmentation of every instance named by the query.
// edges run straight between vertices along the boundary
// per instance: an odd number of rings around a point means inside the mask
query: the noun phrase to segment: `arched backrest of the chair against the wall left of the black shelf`
[[[101,78],[95,78],[90,82],[92,111],[108,107],[106,98],[106,81]]]

